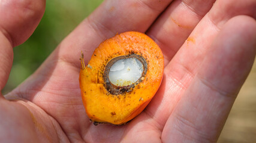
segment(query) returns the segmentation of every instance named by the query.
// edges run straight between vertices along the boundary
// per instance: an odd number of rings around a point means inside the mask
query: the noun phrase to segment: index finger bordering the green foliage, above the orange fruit
[[[59,60],[80,67],[80,51],[85,52],[85,62],[92,52],[107,38],[125,31],[146,32],[171,0],[104,1],[56,49]]]

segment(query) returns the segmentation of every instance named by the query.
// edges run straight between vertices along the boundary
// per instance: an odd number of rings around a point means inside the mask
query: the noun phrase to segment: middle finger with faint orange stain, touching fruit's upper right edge
[[[188,38],[215,0],[176,0],[147,31],[164,54],[165,66]]]

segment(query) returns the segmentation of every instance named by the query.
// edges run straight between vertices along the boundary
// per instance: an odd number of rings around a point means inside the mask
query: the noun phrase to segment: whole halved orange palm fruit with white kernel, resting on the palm
[[[140,32],[125,32],[95,49],[79,76],[83,104],[94,122],[122,125],[136,117],[158,90],[164,71],[159,46]]]

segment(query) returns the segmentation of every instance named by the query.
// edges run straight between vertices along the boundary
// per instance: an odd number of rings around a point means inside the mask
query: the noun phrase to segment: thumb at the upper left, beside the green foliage
[[[13,64],[13,47],[32,35],[45,5],[45,0],[0,0],[0,91]]]

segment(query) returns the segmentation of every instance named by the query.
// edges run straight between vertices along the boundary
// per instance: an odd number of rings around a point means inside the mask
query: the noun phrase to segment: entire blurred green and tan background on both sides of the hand
[[[3,94],[32,74],[53,49],[103,0],[51,0],[31,38],[14,48],[14,63]],[[119,1],[119,0],[116,0]],[[256,142],[256,64],[243,85],[218,142]]]

